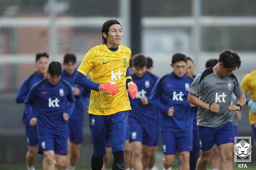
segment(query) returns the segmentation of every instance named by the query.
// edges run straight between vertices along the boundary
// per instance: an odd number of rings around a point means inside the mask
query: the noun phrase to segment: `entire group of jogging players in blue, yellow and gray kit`
[[[113,170],[156,169],[160,141],[164,170],[171,169],[176,152],[181,170],[206,169],[211,159],[213,170],[233,169],[245,103],[256,136],[256,71],[240,85],[232,73],[241,66],[240,57],[225,50],[196,76],[193,60],[176,53],[162,63],[172,72],[159,78],[150,57],[131,57],[120,44],[122,35],[118,21],[105,22],[103,44],[90,49],[78,69],[74,54],[66,54],[63,64],[49,63],[47,53],[36,55],[36,71],[16,97],[25,108],[27,169],[35,170],[39,153],[44,170],[74,170],[88,126],[84,113],[89,113],[91,139],[85,140],[92,142],[92,170],[106,169],[111,152]]]

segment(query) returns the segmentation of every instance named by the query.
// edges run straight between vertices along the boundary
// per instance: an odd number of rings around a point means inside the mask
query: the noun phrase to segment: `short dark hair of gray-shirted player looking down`
[[[223,63],[223,67],[225,68],[233,68],[237,69],[241,66],[241,59],[239,55],[231,50],[224,50],[220,53],[218,62]]]

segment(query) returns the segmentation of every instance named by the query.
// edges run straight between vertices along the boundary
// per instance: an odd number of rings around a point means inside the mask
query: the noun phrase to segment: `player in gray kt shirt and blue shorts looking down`
[[[230,111],[239,111],[246,103],[240,83],[232,73],[240,66],[239,55],[225,50],[220,53],[218,64],[200,72],[188,90],[188,102],[199,107],[197,126],[201,157],[197,161],[197,170],[207,169],[214,142],[220,150],[221,169],[233,169],[235,134]],[[231,105],[232,92],[239,99],[236,105]]]

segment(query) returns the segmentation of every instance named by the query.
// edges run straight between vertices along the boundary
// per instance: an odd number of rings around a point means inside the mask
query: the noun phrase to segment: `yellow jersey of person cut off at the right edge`
[[[244,94],[249,92],[250,99],[256,101],[256,70],[245,75],[245,77],[242,79],[241,87]],[[256,113],[252,112],[251,110],[249,110],[249,120],[250,124],[256,124]]]

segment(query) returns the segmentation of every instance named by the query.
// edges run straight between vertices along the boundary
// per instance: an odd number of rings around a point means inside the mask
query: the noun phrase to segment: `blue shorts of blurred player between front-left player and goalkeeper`
[[[70,142],[75,144],[82,143],[84,120],[69,120],[68,125]]]

